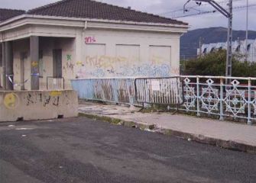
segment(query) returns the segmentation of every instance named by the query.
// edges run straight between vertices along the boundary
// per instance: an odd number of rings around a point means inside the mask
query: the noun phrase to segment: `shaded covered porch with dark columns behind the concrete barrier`
[[[2,90],[71,88],[75,37],[31,36],[0,44]],[[66,79],[66,80],[65,80]]]

